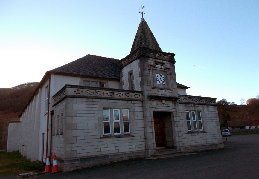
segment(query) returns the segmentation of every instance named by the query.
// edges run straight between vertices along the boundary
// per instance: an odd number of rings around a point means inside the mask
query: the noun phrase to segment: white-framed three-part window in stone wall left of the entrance
[[[112,118],[110,118],[110,112],[110,109],[103,109],[103,135],[129,134],[129,110],[113,109]],[[112,129],[111,122],[113,123]]]

